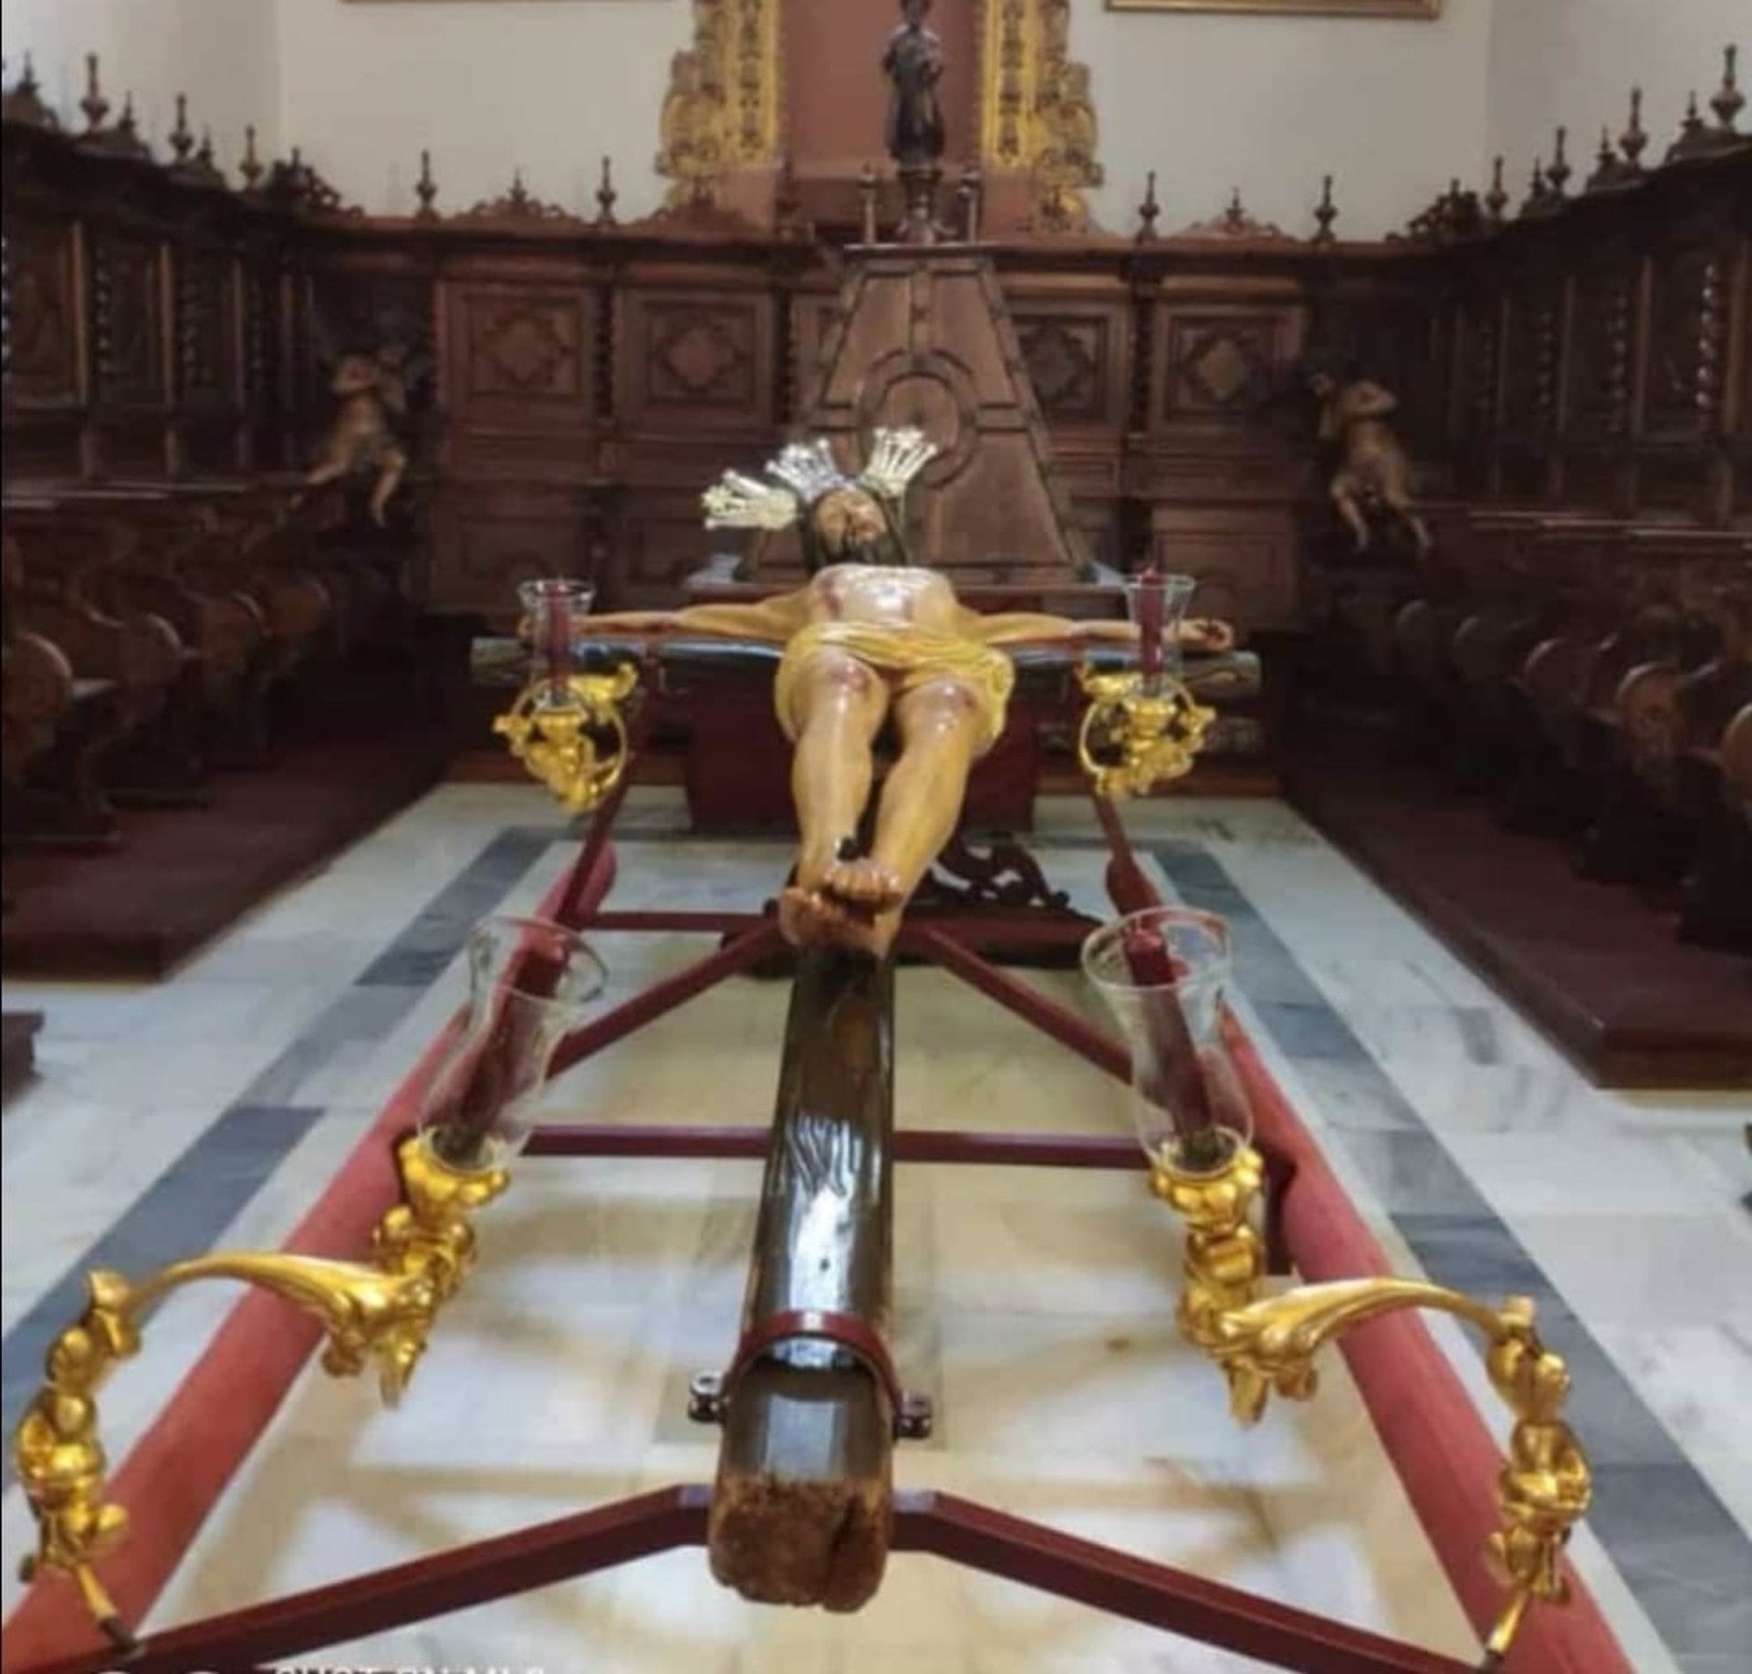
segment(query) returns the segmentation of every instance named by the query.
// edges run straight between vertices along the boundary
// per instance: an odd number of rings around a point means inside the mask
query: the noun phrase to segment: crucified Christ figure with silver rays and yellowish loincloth
[[[946,576],[909,566],[899,503],[929,457],[916,431],[878,431],[871,464],[851,482],[825,443],[792,445],[769,466],[783,489],[731,475],[708,492],[706,510],[708,524],[769,529],[801,513],[806,587],[759,604],[625,611],[583,623],[590,634],[783,646],[774,707],[795,744],[799,846],[795,877],[780,897],[780,926],[795,946],[888,953],[906,902],[955,832],[972,763],[1004,730],[1014,685],[1006,646],[1074,650],[1137,636],[1130,622],[981,615],[957,601]],[[1233,634],[1218,622],[1184,622],[1181,643],[1225,651]],[[888,721],[899,755],[864,853],[858,826]]]

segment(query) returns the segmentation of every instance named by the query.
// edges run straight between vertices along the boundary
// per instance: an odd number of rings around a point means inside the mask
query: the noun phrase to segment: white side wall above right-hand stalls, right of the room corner
[[[1600,128],[1624,130],[1633,86],[1643,89],[1643,163],[1659,163],[1678,133],[1685,96],[1705,121],[1722,79],[1722,47],[1740,44],[1740,79],[1752,82],[1748,0],[1496,0],[1491,32],[1491,154],[1507,158],[1519,200],[1533,159],[1549,161],[1552,130],[1570,130],[1575,191],[1593,168]],[[1748,130],[1747,116],[1740,130]]]

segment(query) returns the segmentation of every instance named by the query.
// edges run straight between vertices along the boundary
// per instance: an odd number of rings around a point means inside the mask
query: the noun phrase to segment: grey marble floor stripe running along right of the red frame
[[[1540,1334],[1568,1361],[1570,1418],[1594,1462],[1589,1527],[1673,1660],[1685,1674],[1747,1667],[1752,1539],[1221,862],[1191,842],[1149,853],[1181,900],[1228,919],[1235,981],[1296,1073],[1342,1079],[1381,1117],[1325,1142],[1344,1147],[1424,1271],[1475,1296],[1533,1298]]]

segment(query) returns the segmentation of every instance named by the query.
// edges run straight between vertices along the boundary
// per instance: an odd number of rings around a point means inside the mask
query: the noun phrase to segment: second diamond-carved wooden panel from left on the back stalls
[[[778,369],[767,296],[722,294],[710,284],[685,292],[632,291],[622,322],[618,389],[622,413],[636,429],[773,422]]]

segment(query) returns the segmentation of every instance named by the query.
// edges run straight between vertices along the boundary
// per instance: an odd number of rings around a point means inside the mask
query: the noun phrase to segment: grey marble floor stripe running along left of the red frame
[[[14,1322],[0,1343],[5,1436],[37,1390],[49,1345],[84,1308],[86,1273],[114,1268],[144,1275],[210,1250],[322,1117],[326,1100],[308,1098],[312,1086],[389,1035],[461,951],[470,925],[491,912],[562,835],[536,826],[499,832]],[[9,1452],[0,1488],[11,1485]]]

